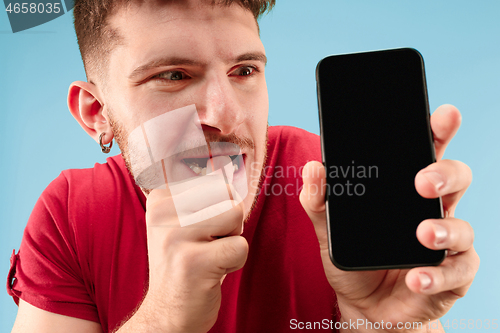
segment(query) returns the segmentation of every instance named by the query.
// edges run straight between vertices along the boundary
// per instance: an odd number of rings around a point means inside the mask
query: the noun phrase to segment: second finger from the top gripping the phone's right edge
[[[463,162],[440,160],[420,170],[415,189],[424,198],[442,197],[446,210],[452,210],[472,182],[472,172]]]

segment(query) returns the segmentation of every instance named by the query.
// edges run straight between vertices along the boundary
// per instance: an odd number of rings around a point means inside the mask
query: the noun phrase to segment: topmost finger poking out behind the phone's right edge
[[[432,114],[431,128],[434,136],[436,160],[439,161],[443,157],[446,146],[457,133],[461,123],[462,115],[453,105],[442,105]]]

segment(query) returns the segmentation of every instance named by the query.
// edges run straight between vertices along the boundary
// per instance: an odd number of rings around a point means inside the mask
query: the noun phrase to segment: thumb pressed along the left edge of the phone
[[[325,213],[326,172],[320,162],[308,162],[302,171],[300,203],[311,219],[321,248],[328,248]]]

